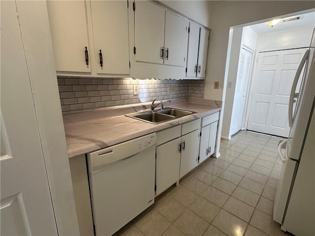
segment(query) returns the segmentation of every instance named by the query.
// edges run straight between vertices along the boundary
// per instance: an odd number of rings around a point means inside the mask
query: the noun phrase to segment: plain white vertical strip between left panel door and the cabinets
[[[17,11],[58,233],[78,235],[46,1],[17,1]]]

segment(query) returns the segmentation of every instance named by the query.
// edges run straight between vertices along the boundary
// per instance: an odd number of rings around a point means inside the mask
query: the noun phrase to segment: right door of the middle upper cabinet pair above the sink
[[[188,20],[166,11],[164,64],[186,65],[188,26]]]

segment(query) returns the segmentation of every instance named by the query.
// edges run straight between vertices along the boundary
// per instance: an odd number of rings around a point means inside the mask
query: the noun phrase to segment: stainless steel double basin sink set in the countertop
[[[195,112],[175,109],[175,108],[164,108],[154,111],[145,111],[145,112],[137,112],[132,114],[127,114],[127,117],[139,119],[142,121],[146,121],[151,124],[158,124],[162,123],[171,119],[181,118],[185,117],[191,114],[194,114]]]

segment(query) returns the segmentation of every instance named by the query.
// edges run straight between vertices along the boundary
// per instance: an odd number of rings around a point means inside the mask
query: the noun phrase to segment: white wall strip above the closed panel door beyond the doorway
[[[310,44],[314,27],[300,27],[258,34],[257,50],[301,47]]]

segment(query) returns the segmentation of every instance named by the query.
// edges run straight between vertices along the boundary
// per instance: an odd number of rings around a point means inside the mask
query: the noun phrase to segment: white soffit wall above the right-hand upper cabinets
[[[212,27],[212,1],[208,0],[159,0],[160,3],[182,13],[197,23]]]

